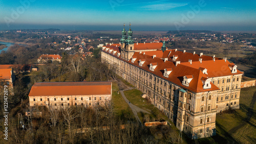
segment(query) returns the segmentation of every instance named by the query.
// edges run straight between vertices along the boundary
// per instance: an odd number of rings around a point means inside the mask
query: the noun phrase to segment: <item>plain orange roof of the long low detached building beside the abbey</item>
[[[41,82],[32,86],[29,97],[111,94],[111,85],[112,82]]]

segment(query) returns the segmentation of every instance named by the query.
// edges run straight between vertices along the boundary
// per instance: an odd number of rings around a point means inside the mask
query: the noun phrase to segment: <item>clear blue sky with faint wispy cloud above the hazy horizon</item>
[[[256,1],[2,0],[0,7],[2,30],[86,26],[119,30],[131,22],[138,30],[256,31]]]

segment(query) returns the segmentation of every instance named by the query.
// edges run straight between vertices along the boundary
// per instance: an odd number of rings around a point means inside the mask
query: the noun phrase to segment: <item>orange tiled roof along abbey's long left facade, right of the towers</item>
[[[189,89],[194,92],[203,92],[203,91],[212,91],[212,90],[219,90],[217,86],[211,83],[211,88],[209,89],[203,89],[203,82],[201,80],[202,77],[206,77],[201,70],[198,68],[189,67],[186,65],[178,64],[175,66],[175,63],[172,61],[166,61],[160,59],[160,58],[152,58],[152,56],[139,54],[137,52],[134,53],[134,56],[137,57],[137,59],[134,61],[134,63],[131,62],[131,60],[128,61],[128,63],[135,65],[137,67],[140,67],[141,69],[148,71],[149,73],[152,73],[154,75],[157,75],[158,77],[165,79],[167,81],[170,81],[176,85],[179,85],[180,87]],[[139,66],[139,60],[145,59],[146,61],[142,66]],[[158,63],[158,66],[154,69],[154,71],[151,71],[149,69],[149,66],[151,63]],[[169,77],[166,78],[163,76],[164,69],[165,68],[173,68],[172,73],[170,73]],[[193,75],[193,79],[189,83],[189,86],[182,85],[183,77]]]

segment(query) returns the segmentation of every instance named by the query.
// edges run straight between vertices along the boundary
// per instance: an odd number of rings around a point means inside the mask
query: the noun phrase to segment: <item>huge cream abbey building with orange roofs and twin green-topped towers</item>
[[[131,26],[130,26],[131,27]],[[216,135],[216,113],[238,109],[242,71],[226,58],[167,50],[165,42],[134,43],[131,28],[120,43],[103,46],[102,62],[192,139]]]

